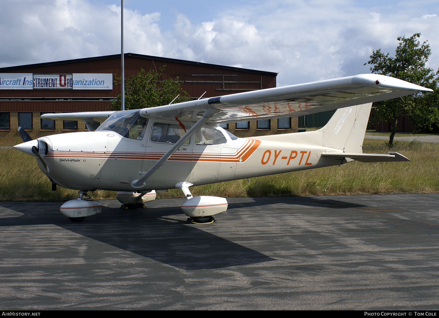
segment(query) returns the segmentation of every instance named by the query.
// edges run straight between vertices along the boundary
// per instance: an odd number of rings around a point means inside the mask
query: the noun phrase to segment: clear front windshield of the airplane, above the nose
[[[118,111],[96,130],[111,130],[125,138],[142,140],[147,124],[148,118],[139,116],[139,110]]]

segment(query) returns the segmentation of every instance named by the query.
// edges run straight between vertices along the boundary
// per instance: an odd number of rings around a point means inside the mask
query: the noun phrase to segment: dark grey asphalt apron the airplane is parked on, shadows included
[[[2,309],[439,309],[439,194],[180,199],[72,223],[0,202]]]

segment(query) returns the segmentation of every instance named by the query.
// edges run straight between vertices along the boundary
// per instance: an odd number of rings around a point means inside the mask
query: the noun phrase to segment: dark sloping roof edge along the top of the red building
[[[210,67],[210,68],[220,68],[220,69],[224,69],[224,70],[241,71],[241,72],[255,73],[255,74],[261,74],[261,75],[277,76],[277,74],[278,74],[278,73],[275,73],[275,72],[251,70],[251,69],[248,69],[248,68],[236,68],[236,67],[232,67],[232,66],[224,66],[224,65],[209,64],[209,63],[202,63],[202,62],[178,60],[178,59],[169,58],[169,57],[157,57],[157,56],[135,54],[135,53],[125,53],[124,55],[125,55],[125,57],[137,57],[137,58],[144,58],[144,59],[148,59],[148,60],[166,61],[166,62],[189,64],[189,65],[197,65],[197,66],[206,66],[206,67]],[[120,58],[120,54],[104,55],[104,56],[97,56],[97,57],[77,58],[77,59],[73,59],[73,60],[55,61],[55,62],[47,62],[47,63],[37,63],[37,64],[28,64],[28,65],[9,66],[9,67],[6,67],[6,68],[0,68],[0,72],[20,70],[20,69],[25,69],[25,68],[35,68],[35,67],[44,67],[44,66],[68,64],[68,63],[79,63],[79,62],[87,62],[87,61],[100,61],[100,60],[108,60],[108,59],[113,59],[113,58]]]

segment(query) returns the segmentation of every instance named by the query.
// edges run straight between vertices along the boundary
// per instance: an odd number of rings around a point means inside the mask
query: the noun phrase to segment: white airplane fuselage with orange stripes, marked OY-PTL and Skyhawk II
[[[192,136],[147,179],[144,188],[134,189],[130,182],[139,179],[173,145],[154,138],[155,122],[166,121],[151,120],[142,140],[109,130],[41,137],[38,140],[47,144],[47,150],[40,154],[49,172],[37,162],[60,186],[114,191],[172,189],[182,181],[202,185],[340,164],[340,160],[320,154],[342,150],[257,137],[237,138],[212,126],[209,129],[216,129],[223,136],[216,139],[216,144],[202,143]]]

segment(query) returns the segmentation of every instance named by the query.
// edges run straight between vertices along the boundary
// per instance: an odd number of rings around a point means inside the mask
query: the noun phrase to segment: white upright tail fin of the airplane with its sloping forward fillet
[[[361,153],[363,152],[361,146],[363,145],[371,107],[372,103],[339,108],[322,129],[313,132],[253,138],[325,146],[341,149],[344,152]]]

